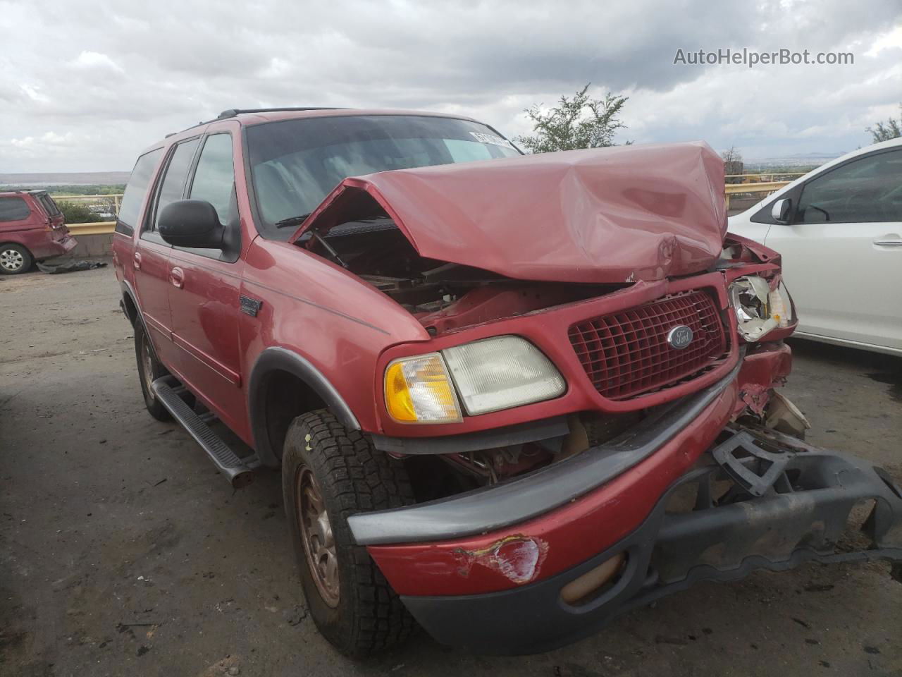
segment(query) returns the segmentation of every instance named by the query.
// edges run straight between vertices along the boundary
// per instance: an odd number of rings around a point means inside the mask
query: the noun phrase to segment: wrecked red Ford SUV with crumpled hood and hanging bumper
[[[756,568],[898,574],[897,485],[774,390],[793,303],[726,233],[706,144],[524,156],[459,116],[230,110],[138,158],[115,232],[147,409],[235,487],[281,468],[345,654],[414,620],[544,651]],[[860,502],[867,545],[840,543]]]

